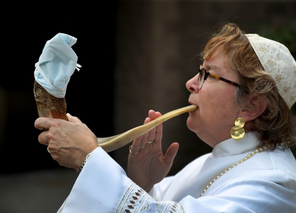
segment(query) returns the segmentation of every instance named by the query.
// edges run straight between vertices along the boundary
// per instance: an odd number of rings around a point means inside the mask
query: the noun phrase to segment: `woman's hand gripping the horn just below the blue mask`
[[[42,132],[38,141],[48,145],[50,154],[60,165],[74,168],[77,172],[86,155],[98,147],[94,133],[77,117],[67,114],[68,121],[54,118],[37,118],[37,129]]]

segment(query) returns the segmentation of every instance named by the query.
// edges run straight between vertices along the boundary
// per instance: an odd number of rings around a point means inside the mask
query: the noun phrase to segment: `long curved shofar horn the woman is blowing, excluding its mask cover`
[[[53,95],[50,95],[40,84],[36,81],[34,83],[34,96],[37,103],[38,115],[39,117],[48,117],[48,118],[60,118],[67,121],[66,116],[66,100],[65,98],[57,98]],[[164,121],[167,121],[170,118],[178,116],[182,113],[188,111],[194,111],[197,109],[197,106],[190,105],[180,109],[170,111],[149,123],[146,123],[142,126],[130,129],[122,134],[98,138],[98,144],[106,152],[111,152],[115,149],[125,146],[126,144],[132,142],[134,139],[138,138],[141,135],[149,132],[155,126]]]

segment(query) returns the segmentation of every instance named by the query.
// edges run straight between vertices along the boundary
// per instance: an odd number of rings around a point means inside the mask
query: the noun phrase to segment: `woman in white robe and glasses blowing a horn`
[[[54,160],[81,171],[59,212],[296,212],[294,58],[284,45],[234,24],[214,35],[202,56],[186,83],[189,103],[198,106],[187,126],[213,152],[175,176],[164,178],[178,144],[163,156],[162,125],[133,142],[127,177],[78,118],[36,120],[36,128],[49,129],[38,139]],[[159,116],[150,110],[144,123]]]

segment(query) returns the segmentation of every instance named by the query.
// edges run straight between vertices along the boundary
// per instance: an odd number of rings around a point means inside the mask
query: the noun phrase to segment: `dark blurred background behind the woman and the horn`
[[[78,38],[72,48],[83,66],[68,84],[67,112],[97,137],[107,137],[141,125],[149,109],[166,113],[189,105],[185,83],[200,64],[207,32],[222,22],[284,43],[295,58],[295,9],[295,1],[106,1],[87,10],[32,12],[32,18],[19,13],[17,22],[5,22],[0,209],[56,212],[77,177],[52,160],[34,128],[34,64],[58,32]],[[164,123],[163,150],[180,144],[169,175],[211,151],[186,128],[187,116]],[[124,169],[129,145],[109,153]]]

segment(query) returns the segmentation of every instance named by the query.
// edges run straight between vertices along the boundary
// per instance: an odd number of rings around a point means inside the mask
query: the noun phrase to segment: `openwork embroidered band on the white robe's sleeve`
[[[115,213],[184,213],[174,201],[155,201],[146,191],[132,183],[123,193]]]

